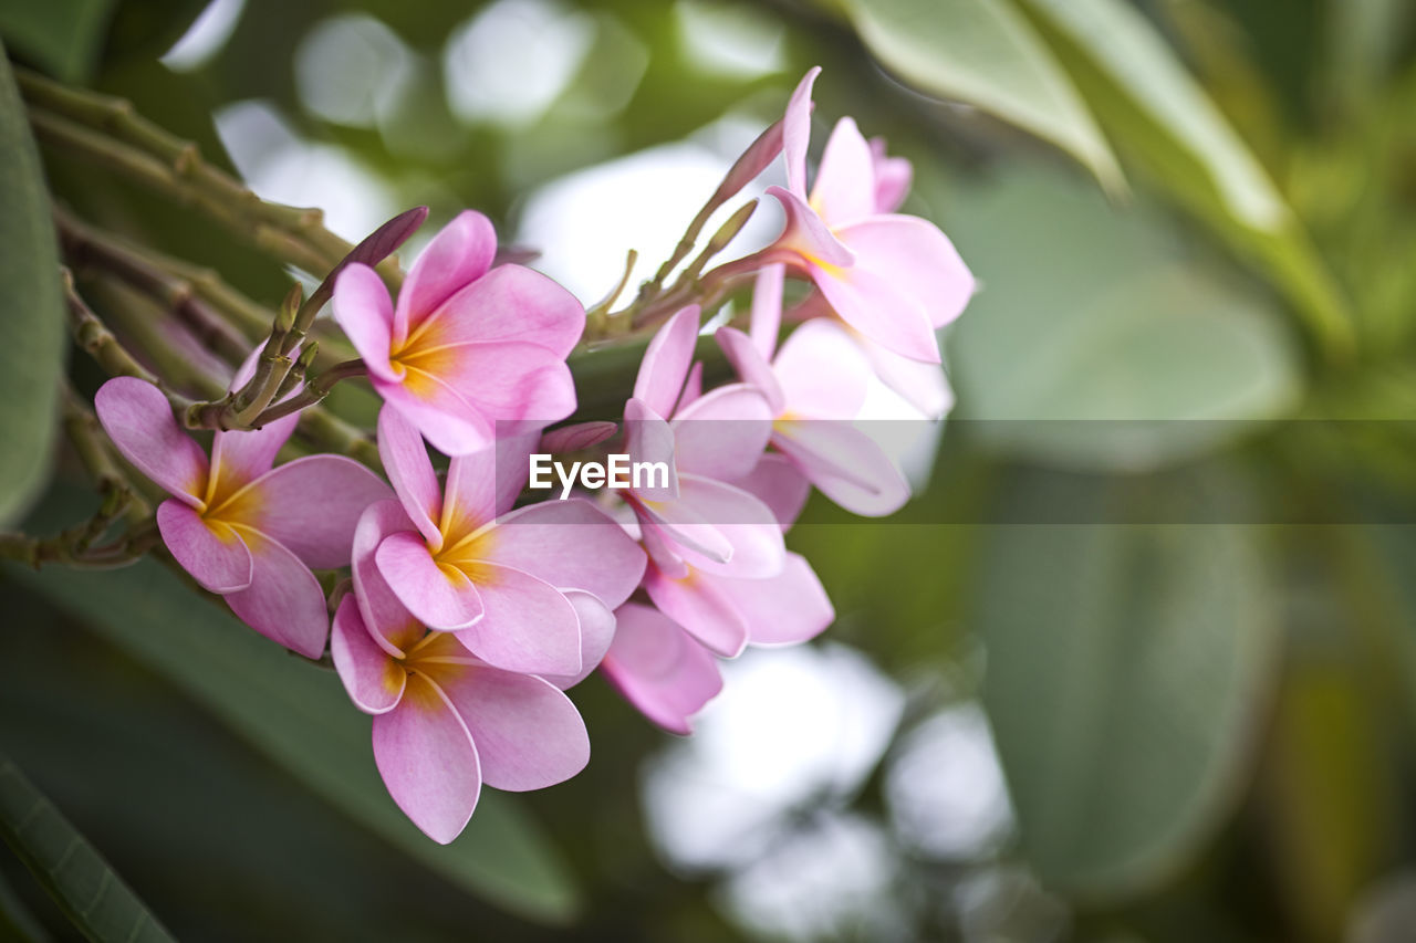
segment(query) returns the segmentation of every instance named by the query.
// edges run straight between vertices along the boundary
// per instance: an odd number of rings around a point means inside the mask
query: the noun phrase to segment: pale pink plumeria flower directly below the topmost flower
[[[753,312],[763,307],[782,307],[780,269],[758,279]],[[780,351],[775,330],[749,337],[722,327],[716,338],[738,375],[766,398],[772,446],[823,494],[864,517],[893,514],[909,500],[905,476],[851,422],[865,405],[871,365],[837,321],[801,324]]]

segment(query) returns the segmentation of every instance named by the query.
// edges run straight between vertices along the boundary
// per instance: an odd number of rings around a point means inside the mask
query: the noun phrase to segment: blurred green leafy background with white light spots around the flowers
[[[476,207],[586,302],[823,65],[813,153],[841,115],[886,136],[983,287],[916,500],[790,535],[837,624],[726,665],[691,739],[592,680],[586,772],[436,848],[331,674],[143,565],[0,571],[0,745],[180,939],[1416,939],[1413,27],[1406,0],[4,0],[16,61],[261,195],[355,241]],[[59,201],[285,293],[44,157]],[[74,936],[8,852],[0,913]]]

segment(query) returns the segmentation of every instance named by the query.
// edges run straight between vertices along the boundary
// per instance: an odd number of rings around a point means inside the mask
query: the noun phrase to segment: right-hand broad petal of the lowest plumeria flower
[[[549,681],[474,665],[425,670],[462,715],[487,786],[510,791],[562,783],[590,759],[585,721]]]

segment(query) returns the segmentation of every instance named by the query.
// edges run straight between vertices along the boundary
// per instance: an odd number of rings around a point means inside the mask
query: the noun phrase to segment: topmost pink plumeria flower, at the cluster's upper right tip
[[[792,95],[783,123],[787,187],[769,187],[787,215],[775,255],[803,270],[831,309],[888,350],[937,364],[935,330],[954,320],[974,279],[932,222],[882,211],[899,197],[899,164],[882,163],[855,122],[831,132],[807,193],[813,68]],[[884,177],[884,178],[882,178]]]

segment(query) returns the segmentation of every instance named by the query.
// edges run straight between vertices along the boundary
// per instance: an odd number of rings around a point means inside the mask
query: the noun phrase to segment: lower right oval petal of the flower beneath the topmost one
[[[779,422],[775,445],[821,494],[862,517],[893,514],[909,500],[909,483],[874,439],[848,422]]]

